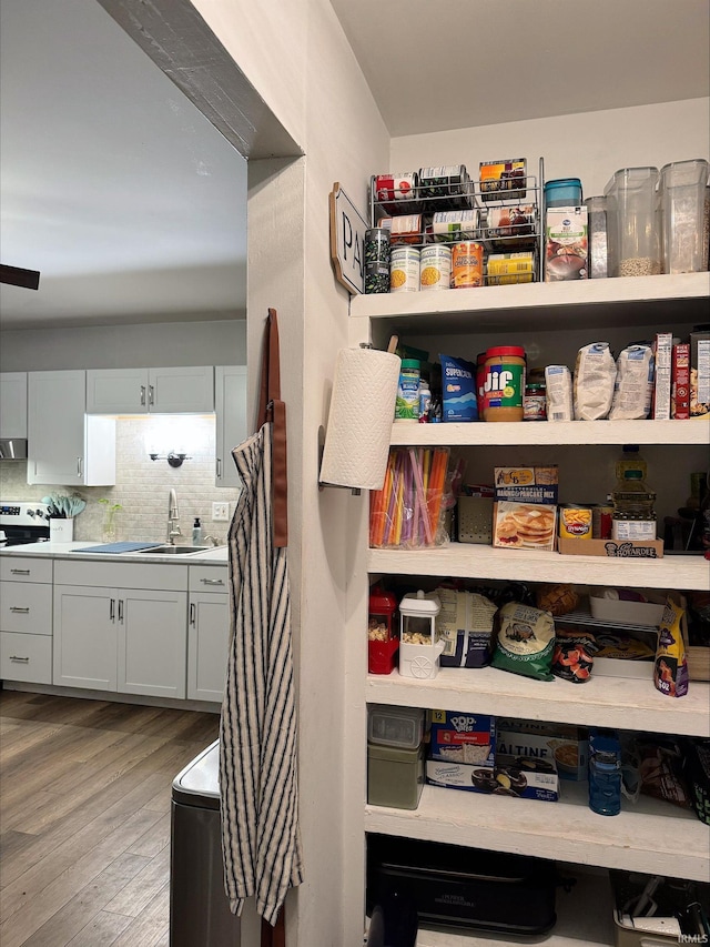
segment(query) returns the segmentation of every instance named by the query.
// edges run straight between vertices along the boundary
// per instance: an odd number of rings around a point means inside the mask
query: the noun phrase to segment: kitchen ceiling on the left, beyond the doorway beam
[[[0,0],[0,328],[244,316],[246,162],[97,0]]]

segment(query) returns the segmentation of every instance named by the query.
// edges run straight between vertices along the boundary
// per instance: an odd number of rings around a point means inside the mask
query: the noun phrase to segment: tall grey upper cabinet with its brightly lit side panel
[[[28,373],[29,484],[115,483],[115,421],[85,410],[85,371]]]

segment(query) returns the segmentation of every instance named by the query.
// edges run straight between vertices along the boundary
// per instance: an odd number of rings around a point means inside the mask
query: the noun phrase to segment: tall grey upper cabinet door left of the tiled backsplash
[[[85,374],[29,373],[28,483],[83,482]]]

